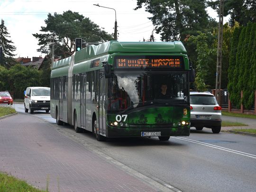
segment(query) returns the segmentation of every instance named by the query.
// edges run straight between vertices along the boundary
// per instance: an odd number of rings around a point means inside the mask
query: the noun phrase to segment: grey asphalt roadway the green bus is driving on
[[[22,104],[14,104],[20,113]],[[45,112],[27,114],[55,126],[55,119]],[[77,134],[69,125],[60,126],[64,133],[86,149],[116,162],[119,167],[139,177],[145,175],[160,184],[183,192],[255,192],[256,137],[223,133],[210,129],[191,130],[189,137],[110,139],[97,142],[91,133]],[[103,157],[102,156],[102,157]],[[118,163],[117,163],[118,162]],[[120,163],[120,164],[119,164]],[[142,174],[142,175],[139,175]]]

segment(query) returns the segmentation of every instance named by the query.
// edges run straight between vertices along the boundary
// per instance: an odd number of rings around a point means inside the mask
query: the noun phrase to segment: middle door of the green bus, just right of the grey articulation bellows
[[[81,75],[81,127],[86,128],[86,75]]]

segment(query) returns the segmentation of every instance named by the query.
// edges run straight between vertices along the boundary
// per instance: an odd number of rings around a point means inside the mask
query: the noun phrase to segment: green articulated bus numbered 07
[[[193,76],[182,42],[90,45],[54,62],[51,116],[98,141],[189,136]]]

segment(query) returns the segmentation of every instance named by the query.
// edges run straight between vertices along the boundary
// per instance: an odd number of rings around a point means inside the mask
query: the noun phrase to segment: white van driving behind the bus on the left
[[[25,112],[34,113],[34,111],[50,110],[50,87],[27,87],[24,98]]]

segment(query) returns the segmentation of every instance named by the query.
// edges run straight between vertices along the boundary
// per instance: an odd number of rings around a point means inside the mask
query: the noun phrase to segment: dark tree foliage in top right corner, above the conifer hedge
[[[219,11],[219,0],[209,1],[208,5]],[[256,22],[255,0],[225,0],[224,17],[228,15],[230,15],[231,26],[234,26],[236,21],[243,26],[246,26],[249,21]]]

